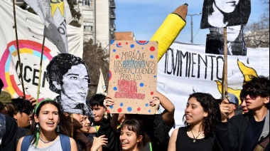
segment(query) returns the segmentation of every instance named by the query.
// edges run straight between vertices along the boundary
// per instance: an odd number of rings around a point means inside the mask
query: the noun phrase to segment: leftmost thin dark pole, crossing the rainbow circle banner
[[[16,11],[15,11],[15,0],[13,0],[13,15],[14,15],[14,28],[15,28],[15,35],[16,35],[16,44],[17,44],[17,53],[18,53],[18,66],[20,68],[20,74],[18,77],[21,77],[21,86],[23,88],[23,98],[26,98],[26,91],[24,90],[24,84],[23,84],[23,70],[21,68],[21,56],[20,56],[20,50],[18,48],[18,33],[17,33],[17,23],[16,23]]]

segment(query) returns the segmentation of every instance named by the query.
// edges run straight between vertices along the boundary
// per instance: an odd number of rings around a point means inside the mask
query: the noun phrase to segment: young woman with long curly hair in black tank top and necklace
[[[217,150],[215,125],[219,117],[218,103],[207,93],[193,93],[185,108],[185,127],[175,129],[171,135],[168,151]]]

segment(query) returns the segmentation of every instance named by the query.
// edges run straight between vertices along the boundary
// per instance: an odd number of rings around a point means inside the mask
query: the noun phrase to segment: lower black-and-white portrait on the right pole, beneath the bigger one
[[[227,27],[227,52],[228,55],[246,56],[243,40],[244,26]],[[210,28],[207,34],[205,53],[224,54],[224,28]]]

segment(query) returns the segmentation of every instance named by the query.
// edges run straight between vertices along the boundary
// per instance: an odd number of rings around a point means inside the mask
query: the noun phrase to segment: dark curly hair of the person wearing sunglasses
[[[252,80],[245,81],[243,88],[240,93],[241,101],[243,101],[243,98],[245,97],[245,94],[247,91],[256,91],[257,95],[266,98],[269,97],[269,77],[265,76],[251,76]],[[267,108],[269,108],[269,103],[267,103]]]

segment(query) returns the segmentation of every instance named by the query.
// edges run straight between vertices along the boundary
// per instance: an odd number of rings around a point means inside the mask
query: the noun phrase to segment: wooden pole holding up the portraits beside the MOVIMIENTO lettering
[[[227,27],[224,28],[224,64],[222,74],[222,100],[228,95],[228,49],[227,49]]]

